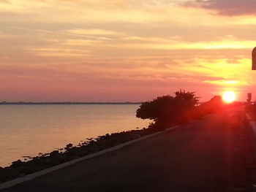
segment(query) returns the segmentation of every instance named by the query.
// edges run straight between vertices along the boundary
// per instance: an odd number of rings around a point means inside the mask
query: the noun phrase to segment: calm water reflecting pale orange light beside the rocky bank
[[[69,142],[136,127],[136,104],[0,105],[0,166],[23,155],[46,153]]]

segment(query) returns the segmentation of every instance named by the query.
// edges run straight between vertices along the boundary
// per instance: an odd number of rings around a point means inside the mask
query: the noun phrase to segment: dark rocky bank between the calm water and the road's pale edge
[[[169,131],[169,129],[166,129],[166,131]],[[83,158],[86,155],[100,153],[103,150],[108,150],[117,145],[132,142],[159,132],[161,131],[156,131],[154,128],[143,128],[139,130],[105,134],[88,139],[75,146],[69,143],[64,147],[64,150],[59,149],[53,150],[50,153],[42,153],[41,155],[31,157],[31,160],[29,161],[21,161],[18,159],[17,161],[13,161],[10,166],[0,166],[0,185],[1,183],[7,183],[8,181],[33,174],[34,172],[40,172],[53,166],[65,164],[69,161]]]

